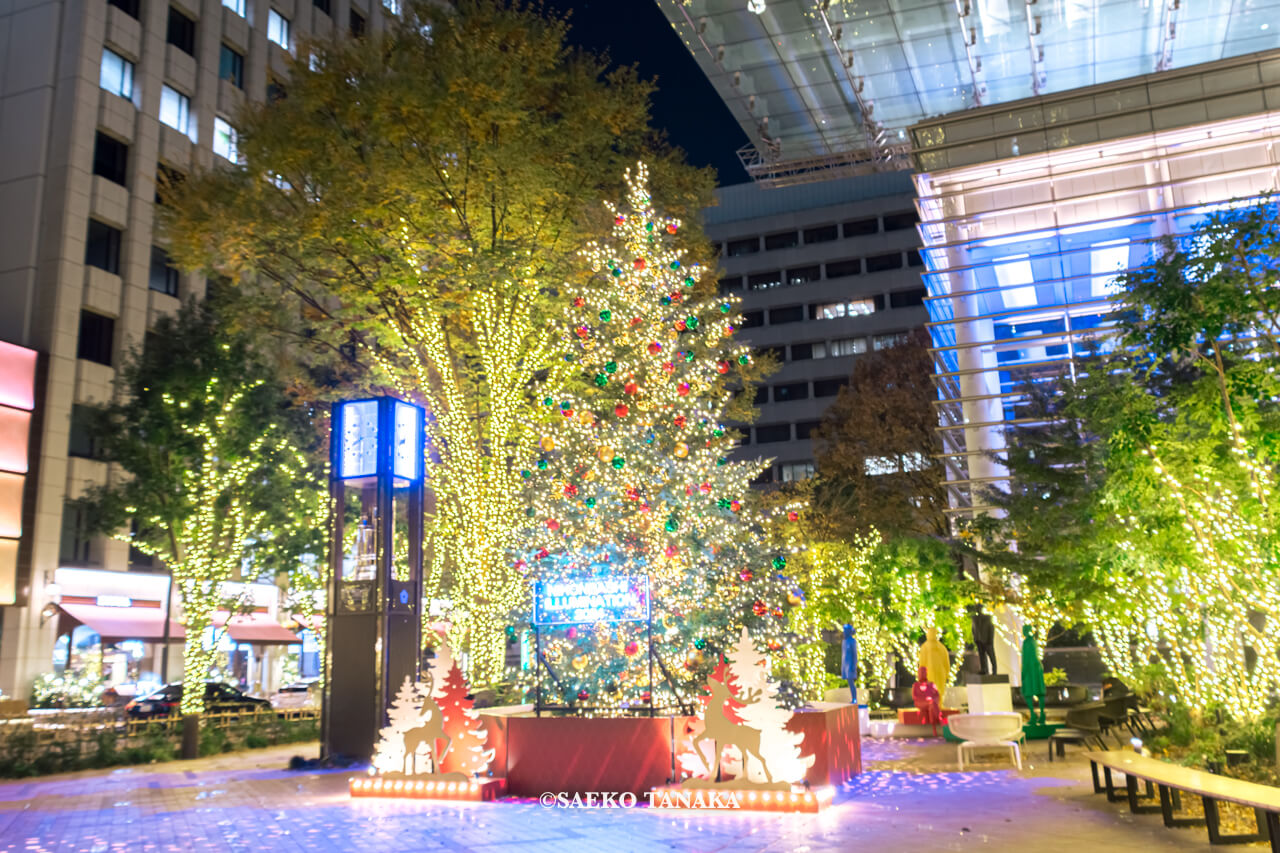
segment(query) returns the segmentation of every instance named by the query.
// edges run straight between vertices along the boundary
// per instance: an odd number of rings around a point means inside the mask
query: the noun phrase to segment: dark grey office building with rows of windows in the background
[[[810,433],[855,359],[927,320],[910,173],[769,190],[723,187],[704,211],[721,292],[742,298],[742,339],[778,370],[756,389],[740,456],[773,464],[760,483],[813,474]]]

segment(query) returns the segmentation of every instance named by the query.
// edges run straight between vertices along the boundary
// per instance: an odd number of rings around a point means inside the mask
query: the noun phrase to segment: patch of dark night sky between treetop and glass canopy
[[[545,0],[547,8],[571,12],[570,41],[608,53],[614,65],[637,65],[657,78],[653,124],[667,131],[698,167],[714,167],[719,184],[748,179],[737,160],[746,134],[681,44],[654,0]]]

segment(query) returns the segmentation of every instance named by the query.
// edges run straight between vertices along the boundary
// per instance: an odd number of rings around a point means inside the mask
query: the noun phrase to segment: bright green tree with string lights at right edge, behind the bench
[[[993,551],[1053,567],[1025,598],[1078,603],[1115,671],[1158,665],[1236,719],[1280,686],[1277,223],[1270,200],[1231,205],[1117,279],[1119,348],[1059,380],[1061,424],[1014,433],[987,523]]]

